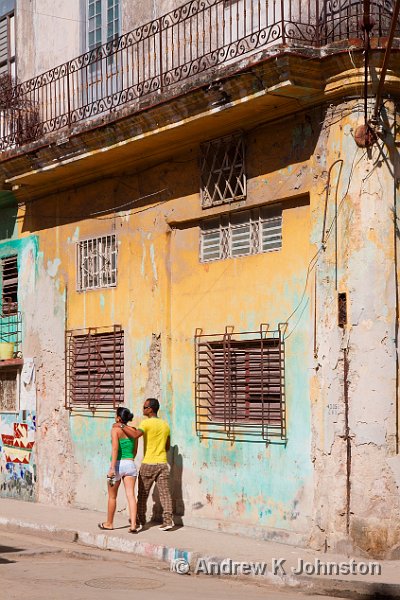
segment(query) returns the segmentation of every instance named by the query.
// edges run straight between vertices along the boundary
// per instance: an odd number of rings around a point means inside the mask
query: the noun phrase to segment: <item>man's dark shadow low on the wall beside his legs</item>
[[[175,525],[183,525],[182,517],[185,514],[185,504],[183,502],[182,494],[183,458],[182,454],[179,453],[178,445],[171,446],[171,449],[168,452],[168,464],[171,468],[169,482],[172,496],[172,512],[174,515],[174,523]],[[152,521],[157,523],[162,522],[162,507],[160,495],[156,485],[153,489],[152,500]]]

